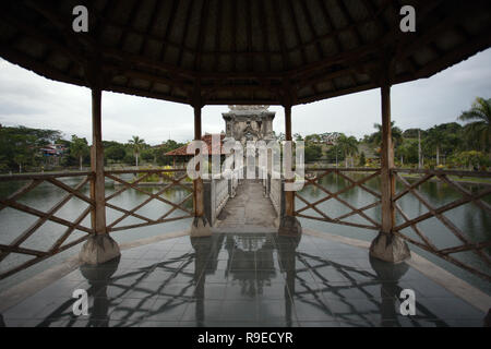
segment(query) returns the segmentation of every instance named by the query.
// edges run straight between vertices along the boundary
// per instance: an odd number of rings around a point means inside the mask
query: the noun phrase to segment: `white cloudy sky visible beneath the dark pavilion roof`
[[[491,97],[491,49],[452,67],[431,79],[396,85],[392,89],[393,120],[402,129],[427,129],[453,122],[470,107],[477,96]],[[282,107],[276,111],[274,130],[284,131]],[[203,132],[224,130],[221,112],[227,106],[203,109]],[[380,91],[294,107],[292,131],[302,135],[344,132],[361,137],[380,122]],[[91,96],[84,87],[53,82],[0,59],[0,123],[60,130],[91,141]],[[132,135],[149,144],[169,137],[193,136],[191,107],[122,94],[103,95],[103,137],[127,142]]]

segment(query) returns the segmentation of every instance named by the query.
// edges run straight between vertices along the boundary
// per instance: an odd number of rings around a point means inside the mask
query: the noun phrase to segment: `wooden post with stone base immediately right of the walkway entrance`
[[[286,104],[285,108],[285,141],[292,142],[294,137],[291,136],[291,104]],[[288,156],[289,164],[291,166],[292,161],[292,144],[290,152],[284,152],[283,156]],[[285,159],[284,159],[285,161]],[[289,168],[288,170],[291,170]],[[286,179],[287,182],[294,182],[295,179]],[[285,185],[283,185],[285,188]],[[297,217],[295,217],[295,192],[294,191],[283,191],[283,195],[285,195],[285,214],[283,217],[279,217],[279,228],[278,233],[284,236],[297,236],[301,233],[302,228]]]

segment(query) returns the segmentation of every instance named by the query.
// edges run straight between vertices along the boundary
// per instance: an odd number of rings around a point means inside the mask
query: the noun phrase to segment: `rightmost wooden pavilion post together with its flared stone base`
[[[372,241],[370,255],[379,260],[399,263],[410,257],[406,242],[394,236],[395,206],[395,177],[394,145],[392,142],[391,124],[391,84],[388,74],[381,79],[382,106],[382,147],[381,147],[381,195],[382,195],[382,225],[379,236]]]

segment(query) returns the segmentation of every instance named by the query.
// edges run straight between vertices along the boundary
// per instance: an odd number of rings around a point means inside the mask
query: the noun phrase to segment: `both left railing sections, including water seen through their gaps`
[[[105,177],[107,232],[193,216],[185,169],[113,170]],[[94,180],[92,171],[0,176],[0,279],[95,233]]]

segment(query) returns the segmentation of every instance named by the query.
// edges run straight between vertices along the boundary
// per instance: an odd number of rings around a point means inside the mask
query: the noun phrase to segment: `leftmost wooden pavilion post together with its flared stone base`
[[[97,67],[95,64],[95,67]],[[104,174],[104,146],[101,128],[103,84],[99,70],[89,69],[87,80],[92,85],[92,147],[91,198],[93,209],[91,214],[94,233],[82,246],[80,260],[87,264],[100,264],[121,255],[118,243],[109,237],[106,226],[106,188]]]

